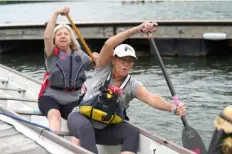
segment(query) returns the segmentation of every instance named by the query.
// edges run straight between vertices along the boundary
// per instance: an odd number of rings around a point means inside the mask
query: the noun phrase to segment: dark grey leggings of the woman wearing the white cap
[[[71,135],[80,139],[81,147],[98,154],[96,144],[119,145],[121,152],[136,153],[139,144],[139,130],[128,123],[112,124],[103,129],[96,129],[90,120],[79,112],[68,116],[68,129]]]

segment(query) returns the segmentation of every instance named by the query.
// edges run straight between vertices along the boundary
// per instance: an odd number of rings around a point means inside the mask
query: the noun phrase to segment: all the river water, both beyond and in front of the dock
[[[0,5],[0,23],[45,22],[52,12],[71,6],[76,21],[157,20],[157,19],[232,19],[231,1],[160,2],[122,4],[119,1],[81,1]],[[59,21],[66,21],[59,18]],[[187,120],[208,147],[214,131],[213,121],[232,100],[232,56],[163,57],[167,72],[182,102],[187,105]],[[0,55],[0,63],[41,80],[45,72],[42,50],[11,51]],[[92,70],[87,72],[91,77]],[[154,57],[140,58],[132,71],[154,94],[171,101],[166,81]],[[128,115],[138,126],[179,145],[183,125],[170,113],[152,109],[138,100],[130,103]]]

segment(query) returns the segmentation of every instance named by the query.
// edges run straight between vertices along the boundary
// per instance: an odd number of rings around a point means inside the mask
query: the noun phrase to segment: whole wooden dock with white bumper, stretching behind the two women
[[[74,22],[90,44],[104,42],[109,37],[137,26],[143,21]],[[232,20],[161,20],[153,37],[162,55],[205,56],[217,49],[232,53]],[[63,22],[64,23],[64,22]],[[0,52],[9,48],[10,42],[43,41],[47,23],[0,24]],[[64,23],[69,24],[69,23]],[[136,34],[128,39],[131,45],[148,48],[147,35]],[[90,45],[91,46],[91,45]]]

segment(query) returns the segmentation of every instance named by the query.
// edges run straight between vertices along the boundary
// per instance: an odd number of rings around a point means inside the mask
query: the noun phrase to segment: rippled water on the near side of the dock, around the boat
[[[214,131],[213,121],[232,100],[232,57],[164,57],[167,72],[181,101],[187,104],[189,124],[198,130],[208,146]],[[39,80],[44,70],[43,52],[0,55],[0,63]],[[87,72],[88,76],[92,71]],[[142,57],[132,75],[147,89],[170,99],[170,91],[154,57]],[[138,100],[128,109],[131,121],[152,133],[181,143],[181,119],[167,112],[154,110]]]

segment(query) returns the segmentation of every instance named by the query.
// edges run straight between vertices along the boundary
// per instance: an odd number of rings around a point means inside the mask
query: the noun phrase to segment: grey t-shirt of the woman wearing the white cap
[[[86,81],[85,85],[87,86],[87,92],[82,101],[88,100],[90,96],[96,93],[99,88],[105,83],[109,73],[112,71],[113,65],[110,62],[105,65],[103,68],[98,68],[95,70],[93,77]],[[113,83],[113,79],[111,78],[110,84]],[[128,107],[129,102],[136,97],[136,89],[142,86],[142,83],[134,79],[130,78],[128,83],[123,89],[123,93],[119,96],[119,102],[122,103],[121,106],[125,109]],[[74,108],[74,112],[78,111],[78,107]],[[103,124],[97,121],[92,120],[92,124],[95,128],[101,129],[107,126],[107,124]]]

